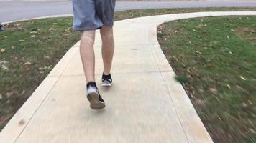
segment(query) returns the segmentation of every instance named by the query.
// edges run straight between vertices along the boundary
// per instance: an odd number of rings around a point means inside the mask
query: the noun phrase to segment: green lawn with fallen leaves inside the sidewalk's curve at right
[[[256,142],[256,16],[172,21],[157,35],[214,142]]]

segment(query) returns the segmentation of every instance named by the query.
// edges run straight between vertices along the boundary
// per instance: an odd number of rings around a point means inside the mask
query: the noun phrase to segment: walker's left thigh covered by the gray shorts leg
[[[103,26],[101,19],[96,16],[95,0],[73,0],[73,29],[86,31]]]

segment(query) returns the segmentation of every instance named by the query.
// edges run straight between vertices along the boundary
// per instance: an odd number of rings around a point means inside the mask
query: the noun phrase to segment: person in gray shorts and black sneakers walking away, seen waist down
[[[110,87],[111,64],[114,55],[114,7],[116,0],[73,0],[73,29],[81,31],[80,54],[86,76],[87,98],[92,109],[105,107],[95,82],[95,55],[93,44],[96,29],[100,30],[104,71],[102,86]]]

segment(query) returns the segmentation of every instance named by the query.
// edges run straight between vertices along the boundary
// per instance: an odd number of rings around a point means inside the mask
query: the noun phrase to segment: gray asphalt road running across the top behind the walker
[[[116,1],[116,11],[187,7],[255,6],[255,1]],[[40,16],[72,14],[71,1],[1,1],[0,21],[32,19]]]

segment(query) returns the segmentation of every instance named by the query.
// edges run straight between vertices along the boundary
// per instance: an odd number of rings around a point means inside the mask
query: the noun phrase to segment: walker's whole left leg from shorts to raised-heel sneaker
[[[81,31],[80,54],[83,63],[83,71],[86,77],[86,97],[90,102],[91,109],[102,109],[105,107],[104,100],[99,94],[94,71],[94,39],[95,29],[103,26],[101,19],[96,16],[95,0],[72,0],[73,4],[73,29]]]

